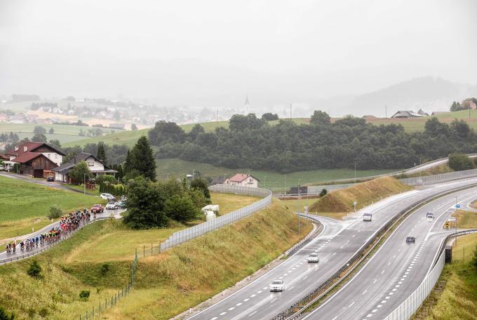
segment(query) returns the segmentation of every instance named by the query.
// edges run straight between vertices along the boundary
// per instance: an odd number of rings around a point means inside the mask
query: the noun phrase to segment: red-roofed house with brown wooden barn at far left
[[[5,153],[10,161],[20,164],[20,173],[43,178],[43,171],[60,166],[65,154],[43,142],[23,142]]]

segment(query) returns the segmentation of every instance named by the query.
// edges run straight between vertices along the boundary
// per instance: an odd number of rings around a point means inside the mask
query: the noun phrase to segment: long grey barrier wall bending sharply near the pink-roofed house
[[[232,193],[232,194],[243,194],[248,196],[260,196],[263,199],[260,199],[253,204],[240,208],[231,213],[227,213],[220,217],[217,217],[213,220],[203,222],[200,225],[190,227],[187,229],[174,232],[169,238],[161,244],[161,251],[165,251],[168,248],[173,248],[178,244],[182,244],[185,241],[196,238],[197,236],[202,236],[207,232],[219,229],[225,225],[229,225],[232,222],[246,218],[249,215],[269,206],[271,204],[271,191],[269,189],[255,188],[255,187],[241,187],[234,185],[213,185],[209,187],[210,191],[213,192],[222,192],[222,193]]]

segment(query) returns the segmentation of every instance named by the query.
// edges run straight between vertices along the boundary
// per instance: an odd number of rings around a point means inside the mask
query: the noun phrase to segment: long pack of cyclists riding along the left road
[[[93,214],[94,218],[96,218],[96,213]],[[38,248],[44,244],[51,244],[60,240],[62,234],[72,232],[81,227],[81,225],[88,223],[90,218],[91,213],[87,208],[84,208],[83,211],[79,210],[74,213],[69,213],[68,215],[61,217],[59,225],[55,225],[55,227],[49,229],[47,232],[36,234],[36,236],[32,236],[31,238],[20,242],[18,242],[17,239],[8,242],[6,244],[6,252],[16,253],[16,251],[32,251],[34,248]]]

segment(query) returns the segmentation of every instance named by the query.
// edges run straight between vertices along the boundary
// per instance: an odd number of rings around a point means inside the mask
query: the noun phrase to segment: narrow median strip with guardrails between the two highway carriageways
[[[402,211],[399,213],[396,213],[394,217],[392,217],[385,225],[383,225],[381,228],[379,228],[371,237],[368,241],[366,241],[361,248],[354,253],[354,255],[340,267],[340,269],[337,270],[330,278],[326,279],[325,282],[320,284],[318,287],[316,287],[314,290],[310,291],[307,293],[307,295],[304,295],[303,298],[300,298],[300,300],[297,300],[293,305],[288,307],[288,309],[283,310],[280,314],[277,314],[271,320],[295,320],[299,319],[300,316],[302,316],[302,312],[304,312],[305,309],[307,309],[309,306],[314,304],[314,302],[318,301],[319,299],[323,298],[323,296],[328,293],[333,287],[335,287],[344,277],[346,277],[351,270],[351,268],[354,268],[358,265],[358,261],[363,258],[363,255],[365,255],[366,252],[369,251],[369,247],[372,246],[373,243],[377,243],[377,239],[382,236],[385,232],[387,232],[387,229],[392,227],[394,223],[396,223],[401,217],[404,215],[410,213],[411,211],[415,210],[418,206],[421,206],[424,204],[426,201],[429,201],[431,199],[434,199],[436,197],[443,196],[445,194],[449,194],[451,192],[457,192],[461,189],[467,189],[469,187],[475,187],[476,185],[468,185],[465,187],[457,187],[455,189],[447,190],[445,192],[441,192],[439,194],[434,194],[432,196],[427,196],[424,199],[418,200],[415,203],[411,204],[410,206],[404,208]],[[353,267],[354,266],[354,267]]]

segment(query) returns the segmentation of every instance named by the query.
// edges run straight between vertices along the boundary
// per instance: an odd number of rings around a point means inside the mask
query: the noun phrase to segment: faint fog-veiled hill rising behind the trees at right
[[[384,105],[387,105],[388,117],[399,109],[424,109],[430,114],[433,111],[448,111],[452,101],[475,95],[477,86],[426,76],[358,95],[343,107],[343,111],[349,110],[356,116],[384,116]]]

